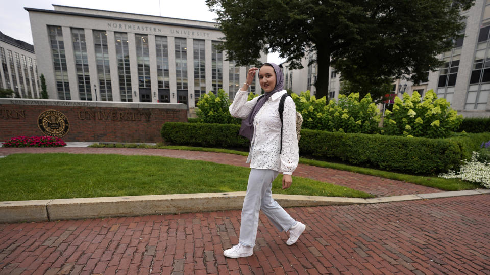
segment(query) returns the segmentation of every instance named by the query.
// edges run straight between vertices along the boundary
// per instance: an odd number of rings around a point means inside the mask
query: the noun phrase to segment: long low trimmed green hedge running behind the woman
[[[240,125],[167,122],[162,126],[165,141],[179,145],[241,148],[249,141],[238,135]],[[467,134],[449,139],[387,136],[301,130],[300,155],[344,161],[359,166],[413,174],[436,174],[471,156],[490,133]]]

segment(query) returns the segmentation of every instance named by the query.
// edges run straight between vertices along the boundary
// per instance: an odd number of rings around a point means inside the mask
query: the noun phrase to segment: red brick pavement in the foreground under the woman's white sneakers
[[[0,224],[0,274],[490,274],[490,195],[286,209],[287,246],[260,216],[254,255],[229,259],[240,211]]]

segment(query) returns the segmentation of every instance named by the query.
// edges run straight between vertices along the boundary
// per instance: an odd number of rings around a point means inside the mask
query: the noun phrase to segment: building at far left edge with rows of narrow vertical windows
[[[13,90],[14,97],[39,98],[34,46],[0,32],[0,89]]]

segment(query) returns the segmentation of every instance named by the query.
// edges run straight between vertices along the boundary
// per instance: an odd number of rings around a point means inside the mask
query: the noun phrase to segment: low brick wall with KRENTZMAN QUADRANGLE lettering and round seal
[[[0,141],[52,135],[63,141],[161,142],[169,121],[187,122],[181,103],[0,99]]]

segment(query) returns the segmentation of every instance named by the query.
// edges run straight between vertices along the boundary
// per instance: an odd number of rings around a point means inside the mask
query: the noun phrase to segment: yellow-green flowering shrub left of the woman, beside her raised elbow
[[[231,105],[228,95],[219,89],[217,96],[212,92],[202,95],[197,103],[196,115],[201,123],[240,123],[240,120],[230,115]]]

